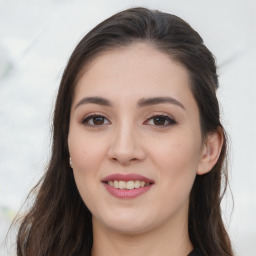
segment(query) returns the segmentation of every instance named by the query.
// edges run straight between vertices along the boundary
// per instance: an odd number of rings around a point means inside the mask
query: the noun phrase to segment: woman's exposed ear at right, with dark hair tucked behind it
[[[197,174],[202,175],[212,170],[217,163],[223,145],[223,133],[221,128],[207,135],[201,152]]]

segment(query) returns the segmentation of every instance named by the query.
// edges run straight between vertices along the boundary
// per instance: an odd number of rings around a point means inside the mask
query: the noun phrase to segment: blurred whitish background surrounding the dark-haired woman
[[[256,255],[255,0],[0,0],[0,256],[4,238],[50,152],[54,99],[72,50],[92,27],[129,7],[170,12],[191,24],[218,63],[218,97],[230,137],[223,216],[236,255]]]

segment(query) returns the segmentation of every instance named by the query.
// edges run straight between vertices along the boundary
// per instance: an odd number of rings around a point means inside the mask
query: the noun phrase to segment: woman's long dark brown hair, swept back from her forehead
[[[189,236],[204,255],[233,255],[220,208],[222,191],[227,186],[224,165],[227,146],[216,98],[218,78],[214,57],[199,34],[179,17],[132,8],[92,29],[69,59],[56,100],[49,167],[35,187],[38,190],[36,199],[19,228],[18,256],[90,255],[93,243],[91,213],[79,195],[69,164],[67,140],[73,94],[82,68],[91,60],[104,51],[136,42],[152,45],[188,70],[191,90],[199,107],[202,136],[205,138],[217,130],[223,134],[224,144],[218,162],[209,173],[198,175],[193,185]]]

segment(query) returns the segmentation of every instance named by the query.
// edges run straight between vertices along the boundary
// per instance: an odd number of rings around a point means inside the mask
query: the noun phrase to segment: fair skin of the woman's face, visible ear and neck
[[[189,254],[189,194],[196,174],[216,163],[222,137],[202,139],[182,65],[144,43],[97,56],[76,85],[68,145],[92,213],[93,256]],[[149,189],[113,195],[112,174],[142,175]]]

